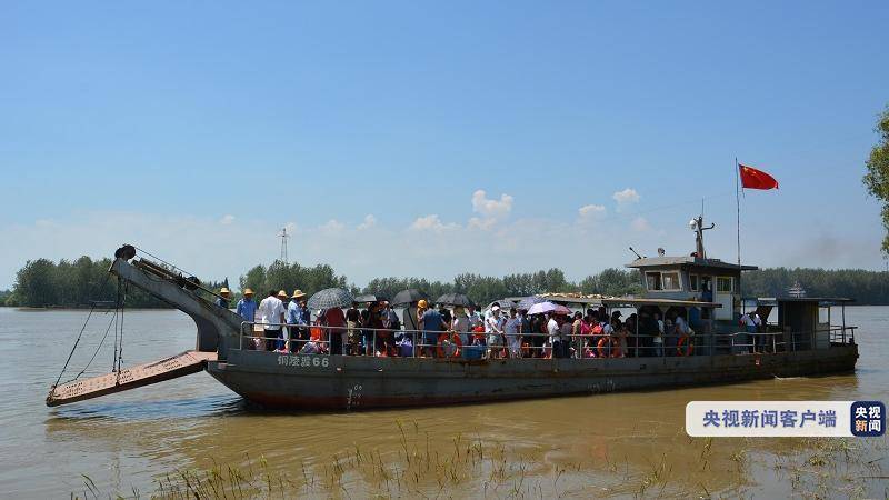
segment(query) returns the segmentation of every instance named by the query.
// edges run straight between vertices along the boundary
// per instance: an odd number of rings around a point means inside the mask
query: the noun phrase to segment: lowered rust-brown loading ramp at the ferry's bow
[[[216,359],[216,352],[186,351],[150,363],[126,368],[119,373],[107,373],[62,383],[50,390],[47,396],[47,406],[58,407],[197,373],[203,371],[207,361]]]

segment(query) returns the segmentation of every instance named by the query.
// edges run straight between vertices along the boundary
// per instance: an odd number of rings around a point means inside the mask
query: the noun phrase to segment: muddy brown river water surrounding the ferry
[[[148,497],[169,492],[177,473],[213,467],[266,478],[251,491],[287,497],[889,494],[885,438],[702,440],[683,431],[691,400],[889,401],[889,307],[847,308],[847,322],[860,327],[855,374],[320,414],[247,408],[203,372],[47,408],[86,317],[0,308],[0,497]],[[110,318],[93,316],[72,368],[87,363]],[[124,327],[127,366],[194,344],[193,323],[178,311],[128,311]],[[113,342],[112,330],[87,374],[111,369]]]

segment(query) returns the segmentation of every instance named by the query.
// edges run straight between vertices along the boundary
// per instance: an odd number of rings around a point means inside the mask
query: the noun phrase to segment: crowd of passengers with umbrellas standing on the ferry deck
[[[217,301],[228,308],[227,289]],[[363,307],[362,307],[363,306]],[[600,307],[586,313],[529,314],[498,304],[483,313],[475,306],[432,307],[427,300],[403,306],[399,314],[388,301],[352,303],[348,309],[316,311],[301,290],[270,290],[259,303],[244,290],[236,312],[261,324],[244,349],[342,356],[499,358],[623,358],[690,356],[691,336],[682,308],[661,318],[657,308],[641,307],[628,318]],[[402,324],[403,318],[403,324]]]

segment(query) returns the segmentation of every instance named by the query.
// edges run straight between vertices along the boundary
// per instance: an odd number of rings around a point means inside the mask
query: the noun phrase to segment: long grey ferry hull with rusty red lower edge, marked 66
[[[447,360],[229,351],[207,371],[263,407],[356,410],[673,389],[855,370],[857,346],[622,359]]]

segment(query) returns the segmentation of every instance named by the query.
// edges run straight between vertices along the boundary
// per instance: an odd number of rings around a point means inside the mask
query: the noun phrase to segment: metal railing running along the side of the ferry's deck
[[[802,332],[618,332],[550,336],[537,332],[510,334],[243,321],[237,349],[290,354],[462,359],[770,354],[855,343],[856,329],[857,327],[831,327]],[[264,334],[269,332],[274,334]]]

